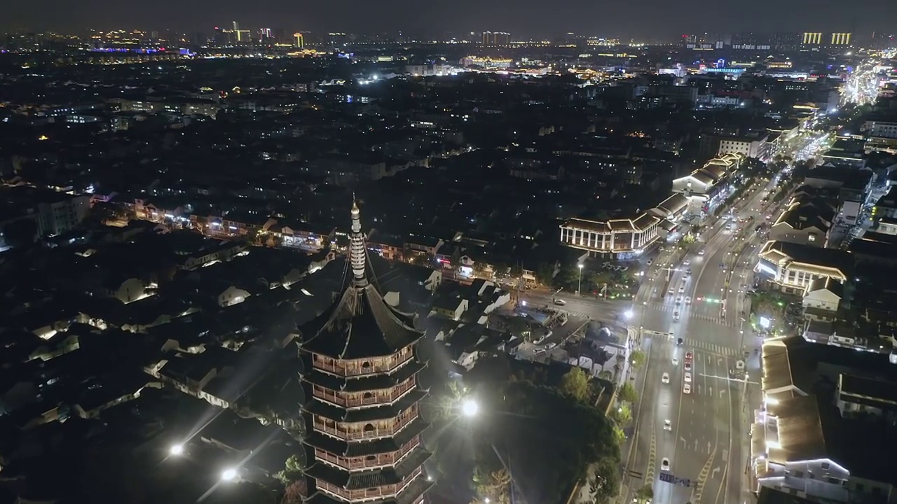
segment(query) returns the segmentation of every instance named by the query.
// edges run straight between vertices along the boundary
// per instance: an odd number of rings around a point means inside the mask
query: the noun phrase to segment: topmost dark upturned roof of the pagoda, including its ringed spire
[[[368,275],[375,275],[369,271],[357,205],[352,208],[349,265],[352,282],[343,294],[327,311],[301,328],[302,350],[353,360],[392,355],[417,342],[422,333],[414,329],[414,316],[390,307],[373,283],[368,282]]]

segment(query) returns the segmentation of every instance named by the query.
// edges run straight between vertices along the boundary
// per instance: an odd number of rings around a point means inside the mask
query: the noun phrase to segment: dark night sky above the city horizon
[[[667,39],[692,32],[897,30],[897,0],[6,0],[0,28],[211,31],[242,28],[442,37],[509,31],[515,39],[565,32]]]

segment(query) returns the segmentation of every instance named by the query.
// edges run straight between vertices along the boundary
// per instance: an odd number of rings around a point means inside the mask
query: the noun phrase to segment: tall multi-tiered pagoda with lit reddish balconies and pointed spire
[[[431,481],[421,434],[426,366],[415,352],[413,316],[388,306],[368,281],[358,205],[352,208],[351,281],[334,305],[301,329],[310,361],[305,443],[310,504],[419,504]],[[373,274],[370,274],[371,278]]]

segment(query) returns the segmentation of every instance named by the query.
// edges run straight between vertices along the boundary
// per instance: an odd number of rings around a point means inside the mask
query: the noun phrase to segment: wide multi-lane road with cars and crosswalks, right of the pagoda
[[[708,226],[704,241],[674,251],[675,256],[659,257],[636,297],[634,324],[644,335],[648,359],[640,373],[643,381],[637,383],[642,393],[635,433],[623,454],[623,503],[646,484],[653,486],[655,504],[745,500],[746,415],[753,411],[745,401],[756,400],[750,374],[759,365],[754,349],[760,342],[744,320],[750,311],[744,290],[753,283],[753,254],[759,245],[753,231],[772,211],[762,204],[770,187],[758,184],[748,191],[736,204],[734,218]],[[727,229],[729,222],[732,229]],[[674,271],[662,269],[670,261]],[[729,378],[745,353],[747,379]],[[662,383],[665,373],[668,384]],[[684,392],[686,383],[689,393]],[[664,459],[669,462],[666,473],[689,480],[687,486],[661,481]]]

